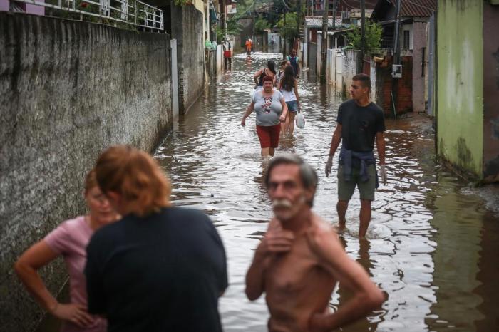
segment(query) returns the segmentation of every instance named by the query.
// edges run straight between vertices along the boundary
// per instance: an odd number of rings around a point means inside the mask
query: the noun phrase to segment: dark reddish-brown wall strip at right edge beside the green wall
[[[499,181],[499,6],[483,10],[483,177]]]

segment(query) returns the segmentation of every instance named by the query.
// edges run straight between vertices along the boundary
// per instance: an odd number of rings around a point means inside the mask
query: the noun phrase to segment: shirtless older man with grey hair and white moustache
[[[362,266],[349,259],[331,225],[312,212],[317,174],[297,155],[275,157],[265,185],[274,219],[246,276],[250,300],[266,293],[269,331],[331,331],[368,315],[384,301]],[[336,282],[354,292],[335,313]]]

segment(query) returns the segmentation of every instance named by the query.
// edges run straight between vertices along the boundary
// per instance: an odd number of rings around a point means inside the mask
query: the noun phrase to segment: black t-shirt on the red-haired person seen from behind
[[[102,227],[85,272],[88,311],[106,315],[110,332],[222,331],[225,250],[202,212],[168,207]]]

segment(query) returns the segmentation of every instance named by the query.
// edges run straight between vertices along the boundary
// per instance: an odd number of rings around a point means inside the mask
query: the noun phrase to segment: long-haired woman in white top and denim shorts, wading
[[[297,115],[299,110],[299,95],[298,80],[294,77],[294,70],[291,66],[284,69],[284,76],[279,82],[278,89],[284,95],[288,110],[286,120],[282,123],[282,134],[289,133],[289,135],[293,135],[294,116]]]

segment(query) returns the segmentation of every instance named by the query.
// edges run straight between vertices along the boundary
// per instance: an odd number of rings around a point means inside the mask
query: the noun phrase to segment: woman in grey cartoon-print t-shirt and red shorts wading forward
[[[279,133],[281,123],[286,120],[287,105],[282,93],[274,89],[272,77],[265,76],[262,81],[263,90],[252,96],[252,102],[242,116],[241,125],[246,125],[246,118],[255,110],[262,157],[272,157],[279,146]]]

